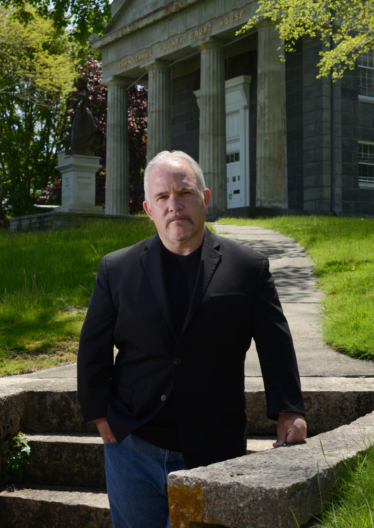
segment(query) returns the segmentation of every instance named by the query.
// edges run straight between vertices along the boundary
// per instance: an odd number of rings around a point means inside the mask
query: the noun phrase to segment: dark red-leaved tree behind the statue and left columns
[[[77,77],[87,79],[90,94],[90,109],[99,129],[107,131],[107,88],[101,82],[101,62],[87,56],[84,67],[78,68]],[[143,203],[143,173],[146,164],[147,146],[147,90],[142,86],[133,86],[128,90],[128,131],[129,131],[129,183],[130,212],[141,211]],[[69,131],[77,105],[77,92],[72,91],[66,101],[66,110],[61,116],[60,135],[63,138],[60,149],[69,148]],[[105,206],[106,146],[95,150],[100,156],[101,169],[96,173],[96,205]],[[43,189],[38,201],[60,205],[61,175],[56,174]]]

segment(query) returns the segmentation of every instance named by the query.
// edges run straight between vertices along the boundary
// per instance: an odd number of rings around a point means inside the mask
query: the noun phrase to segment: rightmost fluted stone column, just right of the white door
[[[258,29],[256,206],[287,209],[286,85],[275,23]]]

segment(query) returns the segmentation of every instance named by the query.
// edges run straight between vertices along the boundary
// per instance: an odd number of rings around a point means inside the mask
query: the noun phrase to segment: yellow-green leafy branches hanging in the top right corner
[[[360,53],[374,48],[374,0],[258,0],[258,4],[255,15],[237,34],[270,18],[281,39],[278,49],[284,44],[286,52],[294,51],[302,35],[320,35],[324,50],[317,78],[330,73],[334,80],[341,78],[347,68],[354,69]],[[284,61],[282,53],[280,57]]]

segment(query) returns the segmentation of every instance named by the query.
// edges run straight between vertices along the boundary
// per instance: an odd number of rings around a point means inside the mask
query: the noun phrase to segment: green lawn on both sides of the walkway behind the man
[[[325,341],[374,359],[374,220],[281,216],[220,222],[275,229],[300,242],[326,294]],[[100,258],[154,232],[147,218],[54,232],[1,230],[0,376],[76,361]]]

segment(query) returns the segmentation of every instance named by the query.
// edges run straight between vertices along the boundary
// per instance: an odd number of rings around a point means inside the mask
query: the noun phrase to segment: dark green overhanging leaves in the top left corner
[[[25,26],[43,18],[57,34],[69,28],[71,38],[82,44],[92,33],[104,35],[105,24],[111,18],[109,0],[2,0],[2,5]]]

